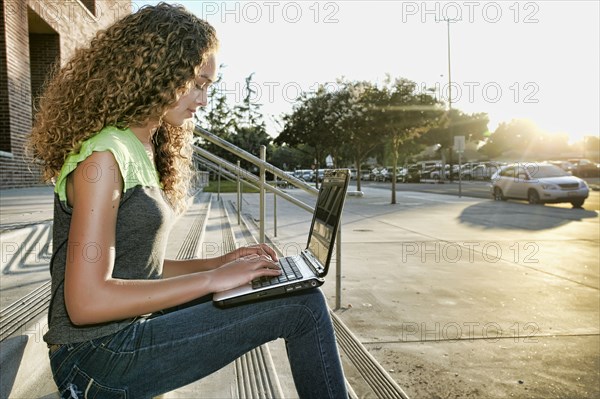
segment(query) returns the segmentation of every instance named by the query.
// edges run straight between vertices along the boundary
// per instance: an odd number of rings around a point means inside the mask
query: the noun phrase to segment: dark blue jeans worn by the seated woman
[[[285,339],[301,398],[348,397],[319,289],[229,309],[216,308],[208,298],[198,302],[53,351],[50,364],[61,397],[151,398],[277,338]]]

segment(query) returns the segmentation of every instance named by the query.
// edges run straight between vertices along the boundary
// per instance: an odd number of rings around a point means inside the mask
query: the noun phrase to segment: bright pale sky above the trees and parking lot
[[[133,11],[155,3],[134,0]],[[492,132],[514,118],[572,142],[600,132],[598,1],[172,3],[217,30],[221,89],[231,104],[254,73],[253,99],[272,136],[301,91],[335,90],[341,77],[383,83],[387,75],[433,87],[446,103],[450,87],[452,107],[486,112]]]

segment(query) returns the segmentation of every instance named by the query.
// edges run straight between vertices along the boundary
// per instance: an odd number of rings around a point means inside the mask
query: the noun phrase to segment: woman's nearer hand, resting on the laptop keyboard
[[[226,263],[216,269],[207,272],[211,276],[211,288],[214,292],[226,291],[252,280],[281,274],[281,268],[277,262],[265,255],[248,255]]]

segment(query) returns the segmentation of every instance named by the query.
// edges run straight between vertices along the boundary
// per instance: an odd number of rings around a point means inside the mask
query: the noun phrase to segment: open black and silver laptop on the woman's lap
[[[261,277],[248,285],[217,292],[213,295],[213,302],[217,306],[228,307],[323,285],[329,271],[349,180],[348,169],[325,171],[306,248],[298,255],[279,259],[281,275]]]

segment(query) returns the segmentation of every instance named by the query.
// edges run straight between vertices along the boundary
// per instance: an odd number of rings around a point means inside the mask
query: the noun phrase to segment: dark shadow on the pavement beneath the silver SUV
[[[485,229],[540,231],[597,217],[597,212],[585,209],[485,201],[465,208],[458,219],[461,223]]]

